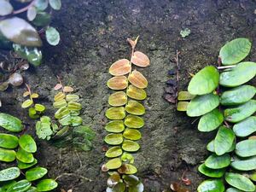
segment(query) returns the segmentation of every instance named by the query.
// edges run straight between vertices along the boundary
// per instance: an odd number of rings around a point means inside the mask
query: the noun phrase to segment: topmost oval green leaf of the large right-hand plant
[[[251,46],[247,38],[236,38],[228,42],[219,51],[222,64],[232,65],[242,61],[250,53]]]

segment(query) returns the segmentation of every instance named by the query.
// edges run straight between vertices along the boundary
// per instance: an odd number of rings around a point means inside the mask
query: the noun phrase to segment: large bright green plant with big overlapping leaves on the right
[[[256,75],[256,63],[242,61],[250,49],[247,38],[225,44],[218,60],[223,66],[204,67],[189,82],[189,91],[178,94],[177,110],[186,111],[189,117],[201,116],[199,131],[217,132],[207,144],[212,154],[198,167],[211,177],[199,185],[199,192],[255,191],[256,140],[252,134],[256,118],[252,115],[256,89],[245,83]]]

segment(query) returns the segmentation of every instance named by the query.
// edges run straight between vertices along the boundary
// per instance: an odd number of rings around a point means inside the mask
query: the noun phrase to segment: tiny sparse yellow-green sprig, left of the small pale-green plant
[[[32,93],[30,87],[26,84],[27,90],[23,93],[24,97],[29,96],[25,102],[21,104],[21,108],[28,108],[28,115],[31,119],[38,119],[44,114],[45,107],[42,104],[34,102],[34,99],[38,98],[38,93]]]

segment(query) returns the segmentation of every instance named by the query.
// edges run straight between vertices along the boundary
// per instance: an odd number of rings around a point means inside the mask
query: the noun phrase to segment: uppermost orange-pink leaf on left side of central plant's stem
[[[121,59],[114,62],[109,68],[109,73],[113,76],[125,75],[131,72],[130,61],[126,59]]]

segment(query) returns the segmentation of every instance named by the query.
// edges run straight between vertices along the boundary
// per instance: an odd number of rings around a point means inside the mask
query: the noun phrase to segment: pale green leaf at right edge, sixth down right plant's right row
[[[256,155],[256,140],[247,139],[236,144],[236,154],[241,157]]]

